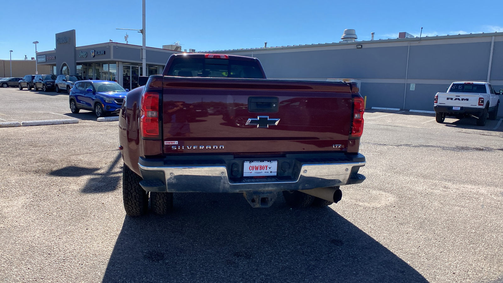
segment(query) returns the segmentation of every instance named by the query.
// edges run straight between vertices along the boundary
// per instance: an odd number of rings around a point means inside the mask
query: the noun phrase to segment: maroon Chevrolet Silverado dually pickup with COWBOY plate
[[[146,79],[146,78],[145,78]],[[269,207],[328,205],[358,173],[364,103],[354,83],[268,80],[259,60],[174,54],[128,93],[119,117],[126,214],[174,192],[242,193]],[[211,113],[212,115],[209,115]]]

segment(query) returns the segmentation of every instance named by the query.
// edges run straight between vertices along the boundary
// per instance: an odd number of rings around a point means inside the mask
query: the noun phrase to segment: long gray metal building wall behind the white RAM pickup
[[[490,82],[498,91],[503,88],[503,35],[494,35]],[[256,57],[268,78],[360,79],[367,108],[431,111],[435,94],[445,92],[451,82],[487,80],[491,37],[492,34],[446,36],[421,42],[418,39],[375,40],[352,45],[318,44],[214,53]],[[357,44],[362,48],[356,48]],[[415,84],[415,90],[410,90],[410,84]]]

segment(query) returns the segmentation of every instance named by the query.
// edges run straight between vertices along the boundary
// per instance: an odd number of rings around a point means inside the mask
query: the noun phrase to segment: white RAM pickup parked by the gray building
[[[435,118],[442,123],[445,116],[457,119],[475,117],[478,126],[485,126],[487,118],[495,120],[498,114],[499,95],[491,84],[485,82],[454,82],[447,92],[435,95]]]

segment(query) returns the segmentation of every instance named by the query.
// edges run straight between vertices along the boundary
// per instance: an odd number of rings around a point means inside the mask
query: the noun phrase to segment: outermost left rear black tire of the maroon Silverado
[[[122,199],[129,216],[140,216],[148,211],[148,192],[140,186],[141,177],[126,164],[122,169]]]

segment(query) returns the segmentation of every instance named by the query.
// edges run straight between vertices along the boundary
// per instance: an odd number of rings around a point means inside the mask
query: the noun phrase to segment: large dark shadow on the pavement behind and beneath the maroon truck
[[[334,205],[337,208],[337,204]],[[329,207],[252,208],[179,193],[171,215],[126,216],[103,282],[427,282]]]

